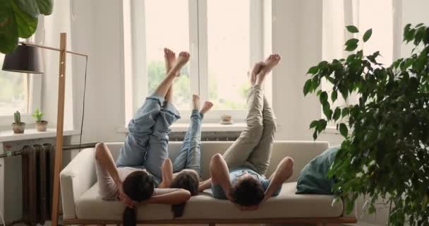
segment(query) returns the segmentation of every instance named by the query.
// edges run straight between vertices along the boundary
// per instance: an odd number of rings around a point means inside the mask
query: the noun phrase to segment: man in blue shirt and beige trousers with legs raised
[[[294,161],[285,157],[269,179],[264,176],[270,165],[276,122],[274,112],[263,95],[262,83],[280,59],[279,54],[272,54],[253,67],[246,129],[223,156],[217,154],[212,157],[211,178],[199,187],[200,191],[211,187],[214,198],[229,199],[241,210],[255,210],[260,203],[277,196],[283,182],[293,173]]]

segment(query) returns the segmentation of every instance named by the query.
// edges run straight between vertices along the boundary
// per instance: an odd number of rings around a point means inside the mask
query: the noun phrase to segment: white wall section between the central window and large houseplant
[[[308,125],[320,118],[320,106],[314,95],[303,97],[303,85],[322,59],[322,1],[274,0],[272,16],[272,49],[282,55],[272,74],[276,138],[310,140]]]

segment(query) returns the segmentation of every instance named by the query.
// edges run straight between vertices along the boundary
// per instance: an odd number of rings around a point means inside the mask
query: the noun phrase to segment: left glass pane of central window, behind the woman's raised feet
[[[168,6],[168,7],[166,7]],[[146,0],[146,60],[148,93],[153,93],[166,74],[164,47],[189,51],[188,0]],[[174,104],[189,109],[191,100],[189,66],[174,82]]]

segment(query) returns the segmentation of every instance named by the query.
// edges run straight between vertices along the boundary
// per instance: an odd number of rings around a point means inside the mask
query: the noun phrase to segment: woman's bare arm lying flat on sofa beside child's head
[[[166,191],[166,192],[163,192]],[[191,192],[185,189],[158,189],[159,194],[152,196],[143,203],[159,203],[159,204],[180,204],[185,203],[191,198]]]

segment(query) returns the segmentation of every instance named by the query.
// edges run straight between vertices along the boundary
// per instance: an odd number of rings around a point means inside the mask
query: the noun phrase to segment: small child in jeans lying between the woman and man
[[[180,153],[174,162],[167,158],[162,164],[162,183],[158,187],[186,189],[191,192],[191,196],[196,196],[200,182],[201,124],[204,114],[213,104],[206,101],[200,110],[200,97],[193,95],[192,101],[191,124],[183,139]],[[172,206],[175,218],[183,215],[184,206],[185,203]]]

